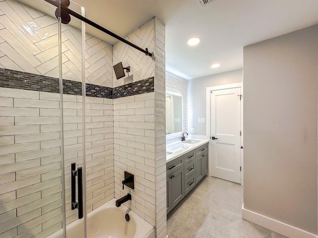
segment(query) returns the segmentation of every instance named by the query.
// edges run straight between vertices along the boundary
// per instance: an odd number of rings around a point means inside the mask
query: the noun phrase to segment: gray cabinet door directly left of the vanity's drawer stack
[[[171,179],[171,208],[174,208],[184,197],[184,169],[183,167],[170,175]]]

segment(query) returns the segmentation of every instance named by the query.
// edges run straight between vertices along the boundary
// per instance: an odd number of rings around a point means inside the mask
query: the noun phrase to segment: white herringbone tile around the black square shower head
[[[150,53],[155,51],[155,18],[151,19],[146,24],[137,28],[125,39],[136,44],[142,49],[148,49]],[[114,74],[114,87],[122,86],[127,83],[140,81],[145,78],[154,77],[155,74],[155,61],[128,45],[118,42],[113,46],[113,64],[118,62],[123,63],[123,67],[130,66],[130,73],[121,79],[116,79]],[[0,62],[1,63],[1,62]]]

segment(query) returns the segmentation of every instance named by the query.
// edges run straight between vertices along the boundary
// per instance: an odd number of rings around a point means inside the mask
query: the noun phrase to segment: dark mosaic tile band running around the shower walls
[[[58,78],[6,68],[0,68],[0,87],[50,93],[60,92]],[[86,96],[113,99],[154,92],[154,89],[154,77],[116,88],[86,83]],[[63,79],[63,92],[81,96],[81,82]]]

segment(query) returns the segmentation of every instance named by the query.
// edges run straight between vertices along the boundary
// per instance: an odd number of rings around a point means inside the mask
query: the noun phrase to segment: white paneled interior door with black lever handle
[[[240,183],[241,88],[211,91],[211,175]]]

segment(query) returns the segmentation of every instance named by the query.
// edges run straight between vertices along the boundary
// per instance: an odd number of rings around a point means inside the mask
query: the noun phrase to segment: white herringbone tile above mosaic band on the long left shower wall
[[[57,19],[16,0],[0,1],[0,12],[0,67],[59,77]],[[85,36],[86,83],[113,87],[113,47]],[[63,79],[81,81],[81,31],[62,24],[62,42]]]

